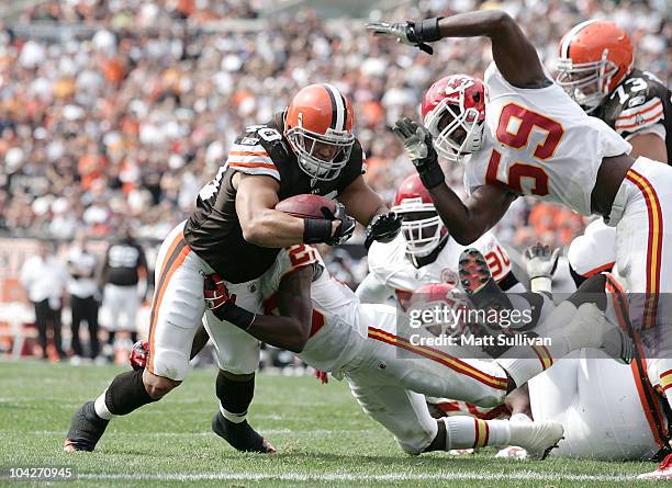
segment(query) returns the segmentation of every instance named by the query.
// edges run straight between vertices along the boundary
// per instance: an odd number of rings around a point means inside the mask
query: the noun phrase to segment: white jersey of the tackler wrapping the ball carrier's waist
[[[312,263],[324,266],[322,257],[313,246],[298,245],[280,251],[273,272],[261,283],[267,314],[277,315],[275,295],[282,277]],[[363,347],[369,325],[366,319],[360,318],[359,299],[355,293],[331,276],[326,268],[311,285],[311,337],[301,354],[296,355],[317,370],[338,372],[352,361]]]

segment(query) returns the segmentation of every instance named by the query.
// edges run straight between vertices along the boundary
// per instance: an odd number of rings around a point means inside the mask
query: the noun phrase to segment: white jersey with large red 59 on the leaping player
[[[557,83],[516,88],[494,63],[484,81],[483,147],[466,162],[467,191],[500,185],[591,215],[591,192],[602,159],[628,154],[631,146],[589,116]]]

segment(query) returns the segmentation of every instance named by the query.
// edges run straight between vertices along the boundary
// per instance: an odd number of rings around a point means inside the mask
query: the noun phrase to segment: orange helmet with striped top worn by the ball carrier
[[[284,136],[306,174],[323,181],[338,177],[355,144],[354,118],[350,101],[331,84],[311,84],[294,95]]]

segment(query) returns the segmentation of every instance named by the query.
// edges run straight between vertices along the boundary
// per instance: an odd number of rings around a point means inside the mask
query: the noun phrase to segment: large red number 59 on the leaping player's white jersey
[[[511,127],[515,127],[513,132],[509,130]],[[547,134],[544,141],[534,148],[533,157],[545,161],[556,154],[562,134],[564,134],[562,125],[558,122],[524,106],[509,103],[502,109],[496,137],[503,145],[520,149],[529,144],[529,137],[535,127]],[[485,174],[488,184],[505,186],[520,195],[548,195],[548,174],[544,168],[517,161],[508,168],[506,181],[501,181],[497,179],[501,159],[502,155],[493,149]],[[528,184],[523,188],[525,180]]]

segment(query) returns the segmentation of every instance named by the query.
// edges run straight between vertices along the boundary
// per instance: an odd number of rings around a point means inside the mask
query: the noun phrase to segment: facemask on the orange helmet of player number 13
[[[609,94],[612,78],[618,66],[607,58],[605,49],[602,59],[591,63],[573,63],[571,58],[559,58],[556,81],[574,102],[591,113]]]

